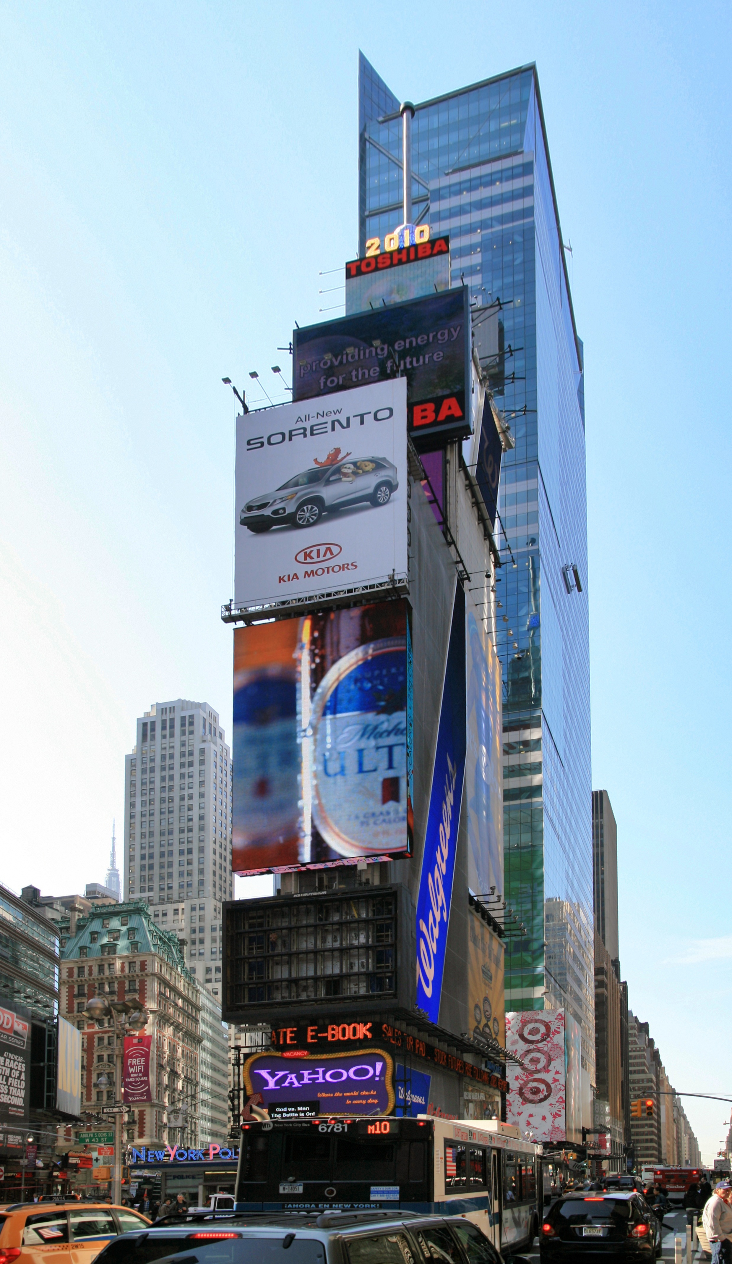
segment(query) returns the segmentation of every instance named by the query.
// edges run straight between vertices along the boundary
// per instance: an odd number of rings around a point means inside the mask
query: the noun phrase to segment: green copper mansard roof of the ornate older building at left
[[[122,919],[125,919],[124,923]],[[116,945],[116,953],[102,953],[105,944],[111,943]],[[121,957],[130,952],[155,952],[164,957],[169,966],[179,971],[189,983],[196,982],[186,966],[178,937],[173,932],[162,930],[160,927],[155,925],[150,916],[149,905],[144,900],[106,904],[95,909],[86,918],[80,918],[76,924],[76,934],[62,949],[61,959],[69,961],[78,957],[81,948],[87,949],[87,958]]]

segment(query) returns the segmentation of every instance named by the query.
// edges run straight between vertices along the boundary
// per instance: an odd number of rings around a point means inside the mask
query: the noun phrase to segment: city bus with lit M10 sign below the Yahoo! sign
[[[514,1253],[539,1231],[540,1150],[495,1120],[252,1120],[241,1125],[236,1210],[463,1215]]]

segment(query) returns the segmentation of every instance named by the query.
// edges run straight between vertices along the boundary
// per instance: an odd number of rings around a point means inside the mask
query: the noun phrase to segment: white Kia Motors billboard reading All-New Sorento
[[[406,580],[404,378],[236,421],[236,607]]]

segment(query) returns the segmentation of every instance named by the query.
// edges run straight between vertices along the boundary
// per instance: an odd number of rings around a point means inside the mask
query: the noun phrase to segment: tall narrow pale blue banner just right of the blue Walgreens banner
[[[478,611],[466,608],[468,886],[504,890],[501,662]]]

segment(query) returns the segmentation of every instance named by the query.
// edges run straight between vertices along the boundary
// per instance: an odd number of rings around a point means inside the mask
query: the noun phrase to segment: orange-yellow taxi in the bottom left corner
[[[91,1264],[111,1237],[151,1221],[109,1202],[15,1202],[0,1208],[0,1264]]]

